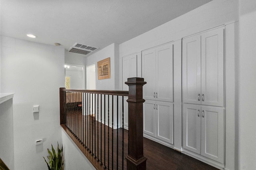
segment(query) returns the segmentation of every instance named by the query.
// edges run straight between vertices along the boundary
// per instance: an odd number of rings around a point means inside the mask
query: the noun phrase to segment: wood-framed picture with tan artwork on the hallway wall
[[[98,80],[110,78],[110,57],[98,61]]]

